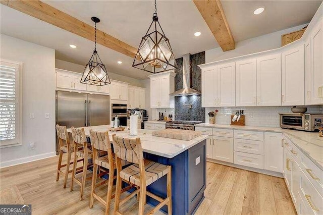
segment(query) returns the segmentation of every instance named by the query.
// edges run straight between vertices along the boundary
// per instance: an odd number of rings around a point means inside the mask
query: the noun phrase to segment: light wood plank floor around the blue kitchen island
[[[0,204],[32,204],[33,214],[103,214],[104,208],[98,201],[89,208],[90,181],[83,201],[79,200],[78,185],[69,192],[70,180],[66,189],[63,177],[55,181],[57,162],[56,156],[1,169]],[[104,196],[106,186],[98,193]],[[207,163],[204,194],[196,214],[296,214],[283,179],[223,165]],[[121,212],[137,214],[137,208],[137,199],[133,197],[122,205]],[[150,209],[146,205],[145,212]]]

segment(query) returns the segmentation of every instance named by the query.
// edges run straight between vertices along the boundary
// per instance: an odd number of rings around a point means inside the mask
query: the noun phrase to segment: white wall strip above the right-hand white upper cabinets
[[[205,63],[220,61],[239,56],[248,55],[265,50],[271,50],[282,46],[282,35],[298,31],[307,24],[288,28],[270,34],[254,37],[251,39],[236,42],[236,48],[230,51],[223,51],[220,47],[205,51]]]

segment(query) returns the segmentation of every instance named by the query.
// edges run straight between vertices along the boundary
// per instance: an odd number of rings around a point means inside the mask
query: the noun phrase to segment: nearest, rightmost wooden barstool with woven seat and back
[[[119,212],[119,206],[124,204],[139,192],[139,215],[142,215],[144,212],[146,195],[159,201],[159,204],[149,211],[148,214],[158,211],[164,205],[167,205],[168,207],[168,214],[172,214],[172,167],[152,162],[151,160],[144,160],[140,138],[122,138],[116,136],[115,134],[112,136],[112,138],[117,165],[117,185],[114,214],[121,214]],[[122,159],[134,164],[122,170]],[[165,175],[167,175],[167,197],[165,199],[160,198],[146,190],[148,185]],[[137,190],[120,200],[122,179],[127,181],[127,183],[135,184],[137,186]]]

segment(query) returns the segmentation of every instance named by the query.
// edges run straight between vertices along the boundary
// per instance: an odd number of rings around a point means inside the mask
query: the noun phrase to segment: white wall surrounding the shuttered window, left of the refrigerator
[[[0,58],[23,63],[22,145],[1,148],[0,166],[56,155],[55,50],[4,34],[0,43]],[[35,119],[29,119],[30,113]],[[33,150],[29,149],[30,142],[35,143]]]

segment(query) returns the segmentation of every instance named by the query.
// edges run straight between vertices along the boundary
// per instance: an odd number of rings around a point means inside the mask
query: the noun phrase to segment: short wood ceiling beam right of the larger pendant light
[[[222,50],[228,51],[235,49],[235,41],[220,0],[193,0],[193,2]]]

